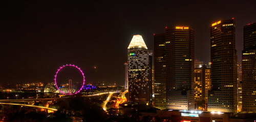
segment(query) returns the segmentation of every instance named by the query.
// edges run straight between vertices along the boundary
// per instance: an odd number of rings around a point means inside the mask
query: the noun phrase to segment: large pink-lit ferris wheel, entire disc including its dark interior
[[[54,82],[58,92],[65,95],[74,95],[79,93],[86,81],[82,70],[71,64],[60,67],[54,77]]]

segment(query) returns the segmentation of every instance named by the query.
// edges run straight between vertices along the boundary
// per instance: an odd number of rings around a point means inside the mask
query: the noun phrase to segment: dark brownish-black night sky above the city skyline
[[[53,82],[66,64],[80,67],[87,83],[123,85],[133,35],[153,50],[153,34],[165,26],[194,28],[195,58],[207,63],[211,23],[232,17],[241,60],[243,26],[256,22],[256,1],[1,1],[0,7],[0,86]]]

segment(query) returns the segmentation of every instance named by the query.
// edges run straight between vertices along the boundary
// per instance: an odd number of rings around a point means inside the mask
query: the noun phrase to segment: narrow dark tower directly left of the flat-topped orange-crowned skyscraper
[[[155,107],[166,109],[165,34],[154,35]]]

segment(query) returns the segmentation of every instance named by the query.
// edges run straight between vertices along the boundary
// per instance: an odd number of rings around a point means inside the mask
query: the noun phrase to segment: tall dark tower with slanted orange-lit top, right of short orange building
[[[237,50],[234,20],[210,27],[211,91],[208,111],[237,111]]]

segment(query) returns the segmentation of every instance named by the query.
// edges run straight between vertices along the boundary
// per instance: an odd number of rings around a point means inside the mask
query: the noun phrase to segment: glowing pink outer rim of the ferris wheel
[[[65,68],[65,67],[73,67],[73,68],[76,68],[76,69],[78,69],[79,72],[82,74],[82,79],[83,79],[83,80],[82,80],[82,86],[81,86],[80,88],[78,88],[77,90],[73,90],[73,89],[72,89],[72,80],[69,80],[69,83],[68,83],[69,88],[68,88],[67,90],[64,90],[63,88],[61,88],[61,87],[59,87],[59,86],[57,85],[57,75],[58,75],[58,73],[60,72],[60,70],[62,70],[62,69]],[[84,81],[86,81],[86,80],[84,79],[84,74],[83,74],[82,70],[81,70],[79,67],[75,66],[75,65],[63,65],[62,67],[60,67],[60,68],[57,70],[57,72],[56,72],[56,74],[55,74],[54,77],[55,77],[55,78],[54,78],[55,85],[56,85],[56,87],[58,88],[59,93],[62,93],[62,94],[65,94],[65,95],[74,95],[74,94],[79,93],[80,90],[83,88]]]

